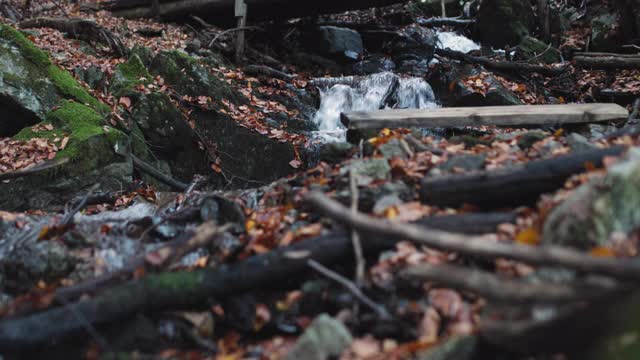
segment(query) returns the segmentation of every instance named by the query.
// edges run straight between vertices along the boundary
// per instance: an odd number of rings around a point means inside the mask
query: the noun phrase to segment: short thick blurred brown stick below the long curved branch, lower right
[[[587,301],[616,288],[616,283],[534,283],[496,276],[481,270],[454,265],[416,265],[401,272],[401,277],[474,292],[491,300],[507,303],[566,303]]]

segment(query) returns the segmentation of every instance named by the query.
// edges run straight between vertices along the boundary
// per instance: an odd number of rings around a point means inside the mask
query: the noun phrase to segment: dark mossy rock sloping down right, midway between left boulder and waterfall
[[[232,103],[240,99],[223,79],[180,51],[160,52],[151,62],[149,71],[162,76],[181,95],[210,96],[214,101],[226,99]]]

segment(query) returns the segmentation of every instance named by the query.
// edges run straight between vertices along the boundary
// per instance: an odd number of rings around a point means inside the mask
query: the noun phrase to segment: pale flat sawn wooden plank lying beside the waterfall
[[[451,128],[459,126],[554,126],[625,120],[627,110],[616,104],[514,105],[381,110],[341,115],[349,129]]]

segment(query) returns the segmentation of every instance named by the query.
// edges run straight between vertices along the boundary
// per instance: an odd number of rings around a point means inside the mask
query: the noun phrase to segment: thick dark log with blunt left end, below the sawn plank
[[[561,188],[572,175],[602,166],[607,156],[618,156],[623,146],[529,162],[506,169],[425,178],[420,189],[427,204],[483,209],[534,204],[541,194]]]

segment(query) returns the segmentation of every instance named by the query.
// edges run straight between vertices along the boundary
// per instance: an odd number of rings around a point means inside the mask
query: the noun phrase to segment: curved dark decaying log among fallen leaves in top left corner
[[[127,55],[127,48],[120,38],[108,29],[86,19],[35,18],[22,21],[20,28],[48,27],[69,34],[76,39],[96,41],[108,46],[118,57]]]

